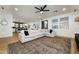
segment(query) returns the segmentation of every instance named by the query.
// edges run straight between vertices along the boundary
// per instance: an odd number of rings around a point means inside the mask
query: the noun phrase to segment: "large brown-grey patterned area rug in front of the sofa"
[[[26,43],[8,45],[9,54],[69,54],[71,39],[42,37]]]

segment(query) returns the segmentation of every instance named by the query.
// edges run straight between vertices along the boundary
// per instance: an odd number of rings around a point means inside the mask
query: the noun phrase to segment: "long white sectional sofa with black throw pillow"
[[[28,31],[29,35],[25,35],[24,31]],[[48,31],[45,30],[22,30],[19,33],[19,40],[24,43],[24,42],[28,42],[31,40],[34,40],[36,38],[39,37],[43,37],[43,36],[50,36],[50,33]],[[54,35],[51,35],[51,37],[54,37]]]

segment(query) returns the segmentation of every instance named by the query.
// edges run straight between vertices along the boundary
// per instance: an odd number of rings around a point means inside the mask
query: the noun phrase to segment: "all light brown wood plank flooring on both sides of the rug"
[[[8,51],[8,44],[18,42],[18,34],[13,33],[11,38],[3,38],[0,39],[0,54],[7,54]],[[71,40],[71,53],[79,53],[78,48],[75,43],[75,39]]]

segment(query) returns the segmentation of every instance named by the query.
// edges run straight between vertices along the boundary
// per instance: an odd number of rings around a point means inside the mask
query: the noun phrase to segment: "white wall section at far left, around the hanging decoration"
[[[8,13],[0,13],[0,21],[6,19],[7,25],[0,24],[0,38],[12,36],[12,15]]]

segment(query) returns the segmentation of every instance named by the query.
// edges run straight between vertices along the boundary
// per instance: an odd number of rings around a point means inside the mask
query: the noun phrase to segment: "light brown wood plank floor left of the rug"
[[[8,49],[8,44],[18,42],[18,34],[13,33],[13,36],[10,38],[0,39],[0,54],[6,54]]]

